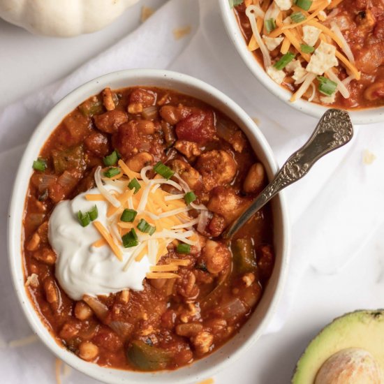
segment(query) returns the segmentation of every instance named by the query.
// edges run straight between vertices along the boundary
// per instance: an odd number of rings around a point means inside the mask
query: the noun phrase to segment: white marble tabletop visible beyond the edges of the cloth
[[[144,0],[107,29],[69,39],[32,36],[0,20],[0,108],[71,73],[84,61],[125,36],[138,25],[142,4],[159,6],[163,2]],[[378,209],[384,214],[383,204],[378,205]],[[313,227],[316,227],[316,219],[313,219]],[[262,337],[242,360],[216,375],[215,383],[288,383],[295,362],[307,343],[332,318],[355,309],[383,307],[383,239],[384,226],[376,232],[370,245],[338,274],[324,275],[309,267],[300,281],[295,304],[283,329]],[[43,346],[38,355],[28,355],[28,350],[29,347],[25,347],[25,359],[12,369],[22,369],[23,363],[40,364],[40,359],[50,356]],[[51,369],[50,365],[45,367]],[[38,383],[38,378],[29,378],[26,382]],[[64,384],[68,383],[96,381],[72,373],[64,381]]]

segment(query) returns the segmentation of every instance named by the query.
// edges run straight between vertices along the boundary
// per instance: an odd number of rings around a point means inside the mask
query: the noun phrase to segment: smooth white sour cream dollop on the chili
[[[80,226],[77,213],[89,212],[95,205],[95,202],[85,198],[86,194],[91,193],[99,191],[91,189],[73,200],[59,202],[50,217],[48,236],[57,253],[57,281],[73,300],[81,300],[83,295],[110,295],[126,288],[143,290],[142,281],[151,266],[147,256],[139,263],[131,263],[128,270],[124,271],[133,251],[124,249],[121,262],[109,246],[92,246],[100,239],[100,234],[92,224]],[[107,202],[98,201],[96,205],[97,220],[107,226]]]

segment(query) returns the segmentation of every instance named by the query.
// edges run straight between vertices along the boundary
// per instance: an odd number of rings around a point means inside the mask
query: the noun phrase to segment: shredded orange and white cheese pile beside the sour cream
[[[101,235],[92,246],[109,246],[117,259],[124,262],[124,271],[147,256],[152,265],[148,279],[177,277],[179,267],[189,265],[189,260],[169,259],[171,262],[166,260],[165,265],[157,264],[168,253],[168,245],[172,242],[198,244],[193,226],[199,219],[189,216],[191,207],[184,200],[189,187],[177,174],[174,179],[161,175],[149,179],[147,171],[152,170],[152,166],[142,168],[140,173],[133,172],[122,160],[118,161],[118,166],[117,177],[107,177],[101,169],[96,170],[96,186],[101,193],[85,195],[86,200],[107,203],[105,221],[92,222]],[[134,183],[130,187],[132,180]],[[180,193],[172,195],[160,188],[162,184],[170,184]],[[207,209],[204,205],[193,207]],[[143,228],[140,223],[147,227]],[[152,232],[146,232],[145,228],[152,228]],[[128,255],[125,249],[130,249]]]

